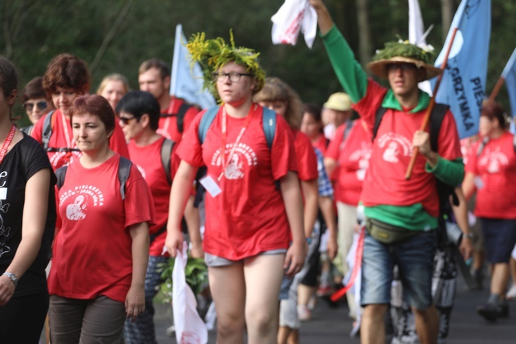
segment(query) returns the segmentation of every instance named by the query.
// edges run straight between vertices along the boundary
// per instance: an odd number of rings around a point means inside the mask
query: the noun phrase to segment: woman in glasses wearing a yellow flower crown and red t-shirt
[[[252,103],[264,86],[258,53],[204,33],[186,45],[204,72],[204,87],[220,107],[200,113],[178,147],[165,246],[175,257],[180,222],[200,166],[206,189],[204,259],[217,311],[217,343],[276,343],[278,296],[284,270],[303,266],[301,191],[290,128],[281,116]],[[289,247],[290,232],[292,246]],[[193,243],[192,252],[203,252]]]

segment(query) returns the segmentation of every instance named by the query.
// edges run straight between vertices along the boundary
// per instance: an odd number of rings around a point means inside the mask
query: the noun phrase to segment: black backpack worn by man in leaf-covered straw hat
[[[433,107],[430,117],[430,146],[432,151],[438,151],[438,139],[439,139],[439,131],[441,129],[442,120],[444,119],[444,115],[447,113],[449,109],[448,105],[438,104]],[[387,109],[385,107],[380,107],[376,110],[376,117],[374,118],[374,129],[373,129],[373,140],[376,138],[376,133],[378,133],[378,127],[380,127],[380,122],[382,121],[383,115]],[[458,206],[459,200],[457,195],[455,195],[455,187],[445,184],[441,182],[438,178],[436,178],[436,186],[439,197],[439,219],[441,220],[444,215],[449,213],[449,197],[450,195],[453,197],[453,205]]]

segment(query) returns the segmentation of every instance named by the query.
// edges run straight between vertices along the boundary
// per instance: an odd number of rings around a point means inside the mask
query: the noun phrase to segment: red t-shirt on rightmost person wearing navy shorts
[[[516,155],[508,131],[489,140],[477,156],[479,140],[469,151],[465,171],[482,178],[477,184],[475,215],[491,219],[516,219]],[[480,185],[479,185],[480,184]]]

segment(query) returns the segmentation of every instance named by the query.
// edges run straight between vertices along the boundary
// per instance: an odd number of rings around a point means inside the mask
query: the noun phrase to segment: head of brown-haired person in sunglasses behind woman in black
[[[36,76],[36,78],[33,78],[25,85],[21,92],[21,104],[32,125],[23,127],[20,130],[30,135],[36,122],[54,109],[52,101],[47,98],[45,89],[43,89],[43,77]]]

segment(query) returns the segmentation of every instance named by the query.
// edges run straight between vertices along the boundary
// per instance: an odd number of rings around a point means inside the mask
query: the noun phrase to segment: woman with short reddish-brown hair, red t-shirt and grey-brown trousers
[[[151,191],[136,165],[127,176],[120,168],[127,160],[109,149],[115,116],[105,98],[80,96],[69,115],[83,155],[63,167],[60,178],[48,277],[50,338],[52,343],[114,343],[125,319],[134,321],[145,306]]]

